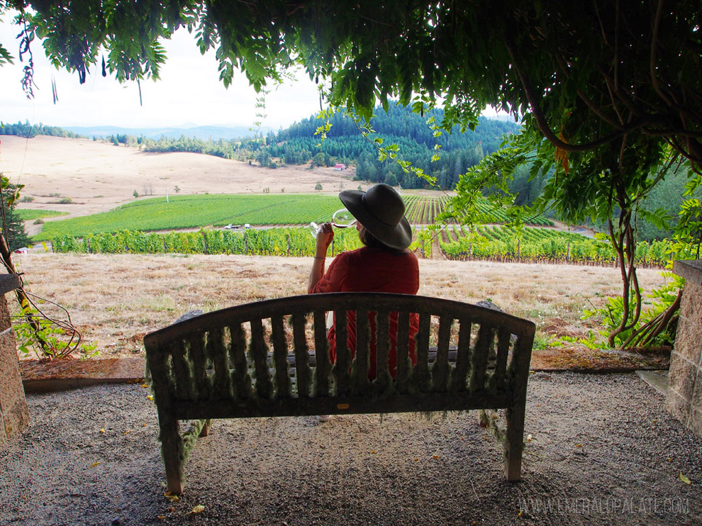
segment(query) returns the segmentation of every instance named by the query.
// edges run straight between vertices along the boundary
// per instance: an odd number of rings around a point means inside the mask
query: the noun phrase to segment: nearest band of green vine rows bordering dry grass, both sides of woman
[[[418,248],[417,241],[411,248]],[[424,243],[425,255],[430,243]],[[337,229],[332,253],[355,250],[362,245],[356,229]],[[470,234],[461,227],[442,231],[439,247],[449,259],[492,260],[500,262],[573,263],[611,266],[616,253],[607,241],[543,228],[524,228],[521,234],[504,227],[486,227],[481,235]],[[53,239],[54,252],[88,252],[102,254],[242,254],[312,256],[314,238],[306,228],[249,229],[244,232],[201,229],[195,232],[173,231],[154,234],[120,231],[116,234],[89,234],[84,238],[59,236]],[[670,252],[670,242],[639,243],[636,264],[640,267],[663,267]]]

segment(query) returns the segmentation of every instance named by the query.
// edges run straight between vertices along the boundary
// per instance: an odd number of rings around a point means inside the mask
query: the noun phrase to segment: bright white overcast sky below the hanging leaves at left
[[[28,120],[51,126],[120,126],[136,128],[183,126],[253,126],[258,120],[256,90],[243,74],[235,72],[229,89],[219,80],[214,51],[201,55],[194,36],[178,29],[164,41],[166,64],[159,81],[141,82],[143,105],[135,82],[120,84],[93,67],[81,85],[77,74],[57,70],[44,55],[39,41],[34,55],[34,100],[27,100],[20,80],[26,64],[18,57],[19,30],[6,18],[0,22],[0,43],[13,55],[13,65],[0,66],[0,121]],[[319,112],[317,86],[303,72],[298,81],[272,88],[266,96],[262,126],[278,130]],[[51,80],[58,102],[53,104]]]

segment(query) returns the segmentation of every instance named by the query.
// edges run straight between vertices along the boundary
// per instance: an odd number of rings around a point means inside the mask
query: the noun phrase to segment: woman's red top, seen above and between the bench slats
[[[419,290],[419,264],[409,250],[390,251],[383,248],[363,247],[342,252],[329,265],[326,274],[310,293],[322,292],[397,292],[416,294]],[[356,313],[347,314],[347,346],[351,358],[356,353]],[[368,377],[376,377],[376,320],[369,315],[371,325],[371,356]],[[336,325],[336,320],[334,321]],[[416,314],[409,318],[409,356],[416,365],[414,335],[419,329]],[[393,378],[397,375],[397,313],[390,313],[390,350],[388,365]],[[336,360],[336,328],[329,329],[329,358]]]

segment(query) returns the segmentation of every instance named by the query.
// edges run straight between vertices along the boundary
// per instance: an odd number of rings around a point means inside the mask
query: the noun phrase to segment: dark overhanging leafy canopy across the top
[[[364,116],[376,98],[421,111],[444,97],[446,126],[474,126],[496,104],[529,110],[527,128],[569,156],[645,137],[702,163],[697,0],[0,2],[10,8],[81,80],[101,50],[119,81],[157,78],[161,42],[185,27],[216,48],[225,85],[235,67],[260,90],[302,65]]]

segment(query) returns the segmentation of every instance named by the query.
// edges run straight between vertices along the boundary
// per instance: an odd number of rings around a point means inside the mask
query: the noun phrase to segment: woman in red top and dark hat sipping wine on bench
[[[317,235],[317,250],[307,282],[307,292],[397,292],[416,294],[419,289],[419,265],[416,256],[406,250],[412,241],[409,222],[404,217],[404,203],[397,191],[387,184],[378,184],[366,192],[346,190],[339,194],[341,202],[356,218],[359,238],[365,245],[358,250],[338,255],[324,272],[326,250],[334,238],[331,224],[322,225]],[[356,351],[356,313],[347,314],[347,345],[351,356]],[[370,379],[376,377],[376,321],[371,325]],[[334,321],[336,325],[336,320]],[[329,330],[329,358],[336,360],[336,326]],[[409,356],[416,364],[414,335],[418,316],[410,317]],[[397,375],[397,313],[390,315],[390,350],[388,365],[393,378]]]

